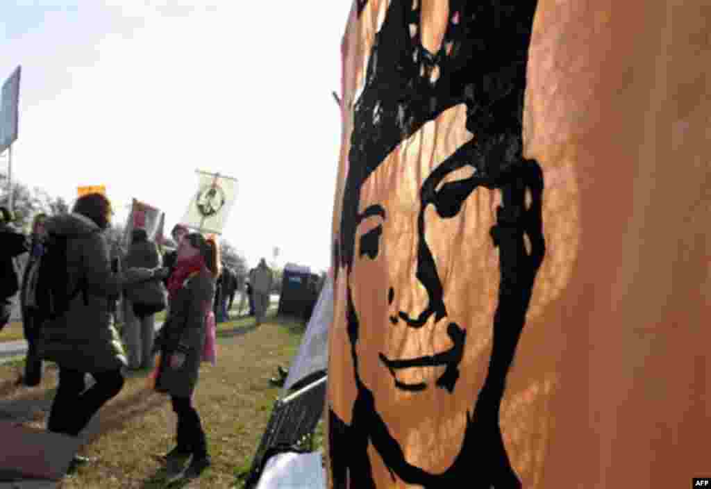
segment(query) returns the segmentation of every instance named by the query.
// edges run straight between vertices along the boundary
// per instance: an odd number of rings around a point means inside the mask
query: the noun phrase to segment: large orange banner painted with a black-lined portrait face
[[[329,487],[666,488],[707,470],[710,15],[354,2]]]

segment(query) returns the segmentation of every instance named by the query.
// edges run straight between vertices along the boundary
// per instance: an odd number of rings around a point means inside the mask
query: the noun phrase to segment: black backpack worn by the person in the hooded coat
[[[65,235],[50,234],[44,244],[44,253],[28,271],[25,306],[34,311],[40,324],[64,316],[80,292],[84,293],[84,302],[88,304],[83,276],[73,292],[67,291],[68,239]]]

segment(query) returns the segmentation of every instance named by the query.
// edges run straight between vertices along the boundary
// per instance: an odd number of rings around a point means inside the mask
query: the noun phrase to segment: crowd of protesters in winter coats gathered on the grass
[[[214,236],[176,225],[176,249],[161,257],[146,230],[132,231],[129,248],[112,253],[104,231],[112,207],[101,193],[78,198],[70,213],[37,215],[26,236],[0,208],[0,329],[20,292],[28,342],[18,385],[41,382],[43,362],[58,365],[48,431],[80,436],[115,397],[128,370],[152,370],[154,389],[176,413],[176,446],[164,455],[168,478],[195,478],[210,466],[201,418],[193,405],[201,362],[215,362],[216,323],[228,321],[235,294],[246,286],[250,314],[264,321],[273,275],[266,262],[240,284],[220,259]],[[23,270],[15,259],[27,253]],[[156,331],[155,314],[166,311]],[[117,329],[117,316],[122,325]],[[93,382],[87,385],[87,374]],[[92,461],[75,456],[70,471]]]

